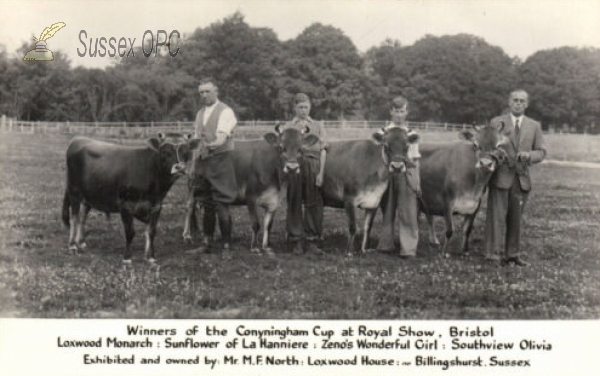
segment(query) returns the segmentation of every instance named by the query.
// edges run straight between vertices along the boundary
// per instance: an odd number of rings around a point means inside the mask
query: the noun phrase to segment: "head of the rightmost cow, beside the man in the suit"
[[[475,167],[484,172],[492,173],[498,164],[506,159],[506,151],[503,146],[510,142],[504,134],[504,122],[499,127],[488,124],[485,126],[473,124],[475,134],[468,130],[462,131],[459,138],[473,144],[477,163]]]

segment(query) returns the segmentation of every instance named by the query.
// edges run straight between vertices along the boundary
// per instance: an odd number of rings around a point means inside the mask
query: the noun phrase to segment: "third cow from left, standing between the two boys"
[[[388,180],[391,174],[405,173],[407,167],[414,166],[407,152],[409,144],[418,141],[419,135],[415,132],[391,128],[373,133],[371,139],[329,144],[321,192],[325,206],[346,210],[346,252],[349,256],[354,253],[356,209],[366,212],[360,249],[365,254],[373,219],[388,188]]]

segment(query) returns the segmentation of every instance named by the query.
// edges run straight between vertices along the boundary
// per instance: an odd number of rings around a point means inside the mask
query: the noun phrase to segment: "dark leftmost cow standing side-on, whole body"
[[[67,148],[67,187],[62,219],[69,231],[69,250],[86,249],[85,221],[91,209],[119,213],[125,227],[123,262],[131,264],[133,219],[146,224],[145,259],[155,264],[154,237],[162,201],[185,174],[191,158],[191,134],[167,133],[144,145],[125,146],[75,137]]]

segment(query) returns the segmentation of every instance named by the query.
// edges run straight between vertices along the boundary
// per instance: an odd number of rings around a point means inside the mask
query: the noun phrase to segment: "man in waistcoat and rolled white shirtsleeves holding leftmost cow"
[[[237,195],[237,182],[231,151],[234,148],[233,130],[237,119],[233,110],[218,99],[218,88],[212,79],[202,79],[198,86],[203,107],[196,115],[195,137],[204,140],[194,151],[190,179],[196,192],[201,192],[204,206],[202,245],[187,253],[210,251],[215,233],[216,217],[223,241],[223,251],[231,243],[231,214],[229,205]],[[226,253],[225,253],[226,255]]]

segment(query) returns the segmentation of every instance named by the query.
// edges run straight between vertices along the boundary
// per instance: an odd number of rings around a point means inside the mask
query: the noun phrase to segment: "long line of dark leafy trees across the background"
[[[528,113],[544,128],[600,130],[597,48],[561,47],[520,61],[480,37],[459,34],[427,35],[410,46],[387,39],[361,54],[333,26],[314,23],[280,41],[239,12],[196,29],[179,47],[176,57],[164,48],[150,58],[137,47],[135,58],[104,69],[72,67],[60,51],[52,63],[26,63],[30,45],[14,57],[0,48],[0,114],[45,121],[193,120],[198,81],[210,76],[240,120],[289,119],[291,98],[304,92],[313,100],[312,115],[322,120],[384,120],[389,99],[402,94],[410,101],[409,120],[482,123],[505,110],[509,91],[519,87],[530,93]]]

